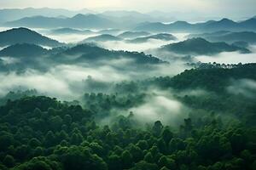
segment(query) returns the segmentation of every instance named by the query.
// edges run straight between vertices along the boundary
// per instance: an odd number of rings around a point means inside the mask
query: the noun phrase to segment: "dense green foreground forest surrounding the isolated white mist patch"
[[[254,170],[255,86],[234,92],[230,82],[255,81],[255,72],[254,64],[204,65],[175,77],[120,82],[73,102],[36,90],[10,92],[0,102],[0,169]],[[189,107],[175,125],[139,121],[129,110],[153,87]]]

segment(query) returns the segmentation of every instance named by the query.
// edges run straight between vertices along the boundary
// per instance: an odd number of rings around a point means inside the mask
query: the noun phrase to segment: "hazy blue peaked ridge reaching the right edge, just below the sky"
[[[177,21],[171,24],[160,22],[147,22],[134,28],[135,31],[153,32],[212,32],[212,31],[256,31],[256,19],[235,22],[229,19],[209,20],[207,22],[190,24],[185,21]]]

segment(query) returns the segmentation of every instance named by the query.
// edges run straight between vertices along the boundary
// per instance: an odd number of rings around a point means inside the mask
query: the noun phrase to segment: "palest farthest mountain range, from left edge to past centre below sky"
[[[170,16],[166,16],[166,14],[143,14],[137,11],[128,10],[111,10],[96,13],[96,11],[87,8],[76,11],[64,8],[3,8],[0,9],[0,23],[38,15],[64,19],[76,14],[97,14],[100,17],[108,18],[108,20],[115,20],[116,22],[123,23],[125,26],[131,26],[146,21],[170,22],[173,19]]]

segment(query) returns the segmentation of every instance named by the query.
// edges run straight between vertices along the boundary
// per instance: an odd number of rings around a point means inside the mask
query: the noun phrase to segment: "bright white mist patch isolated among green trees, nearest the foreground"
[[[164,124],[177,126],[189,115],[189,109],[174,99],[170,91],[148,89],[148,92],[151,93],[143,105],[129,110],[139,122],[153,123],[159,120]]]

